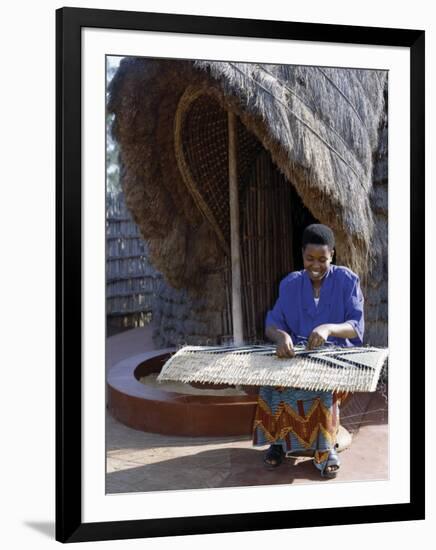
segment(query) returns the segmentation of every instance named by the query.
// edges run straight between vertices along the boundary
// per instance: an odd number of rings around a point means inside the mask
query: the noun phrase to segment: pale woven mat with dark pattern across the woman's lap
[[[386,348],[296,348],[278,358],[274,346],[186,346],[163,366],[158,381],[295,387],[312,391],[373,392]]]

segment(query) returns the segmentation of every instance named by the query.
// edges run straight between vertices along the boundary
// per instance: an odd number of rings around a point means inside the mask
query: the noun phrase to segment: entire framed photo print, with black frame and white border
[[[424,32],[56,15],[57,540],[423,519]]]

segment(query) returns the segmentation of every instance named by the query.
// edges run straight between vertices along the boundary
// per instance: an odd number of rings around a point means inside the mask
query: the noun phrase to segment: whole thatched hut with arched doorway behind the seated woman
[[[121,62],[109,111],[126,202],[174,289],[157,315],[160,343],[232,334],[233,113],[245,339],[262,340],[279,280],[301,268],[301,232],[319,221],[335,231],[336,263],[361,277],[367,341],[387,344],[386,94],[382,71]]]

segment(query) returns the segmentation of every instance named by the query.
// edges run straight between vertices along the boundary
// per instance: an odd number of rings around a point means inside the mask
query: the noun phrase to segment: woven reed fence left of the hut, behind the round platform
[[[125,327],[151,319],[162,275],[147,258],[147,244],[128,212],[123,193],[106,198],[106,315]]]

